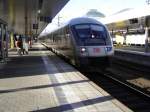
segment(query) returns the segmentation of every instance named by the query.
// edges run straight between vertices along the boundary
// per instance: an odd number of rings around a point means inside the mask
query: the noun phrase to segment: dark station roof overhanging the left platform
[[[40,33],[69,0],[0,0],[0,19],[18,34]],[[34,24],[34,25],[33,25]]]

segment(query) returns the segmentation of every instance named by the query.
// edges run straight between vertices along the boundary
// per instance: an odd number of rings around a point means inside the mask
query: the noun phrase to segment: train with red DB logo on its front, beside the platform
[[[114,54],[107,27],[88,17],[73,18],[38,40],[80,68],[107,68],[109,58]]]

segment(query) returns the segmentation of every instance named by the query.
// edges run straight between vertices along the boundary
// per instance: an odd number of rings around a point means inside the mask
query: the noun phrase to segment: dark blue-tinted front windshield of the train
[[[76,25],[74,28],[78,42],[81,44],[87,46],[111,44],[107,30],[102,25],[83,24]]]

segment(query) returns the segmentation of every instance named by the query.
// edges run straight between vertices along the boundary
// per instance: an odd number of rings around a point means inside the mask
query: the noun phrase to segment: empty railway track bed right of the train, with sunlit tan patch
[[[115,77],[129,82],[131,85],[150,95],[149,69],[149,66],[113,59],[109,71],[116,74]]]

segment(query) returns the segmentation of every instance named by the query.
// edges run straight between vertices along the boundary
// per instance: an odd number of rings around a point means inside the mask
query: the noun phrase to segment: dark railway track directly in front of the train
[[[108,73],[84,73],[90,80],[111,94],[114,98],[125,104],[135,112],[150,111],[150,96],[136,88],[119,81]],[[93,77],[94,76],[94,77]]]

